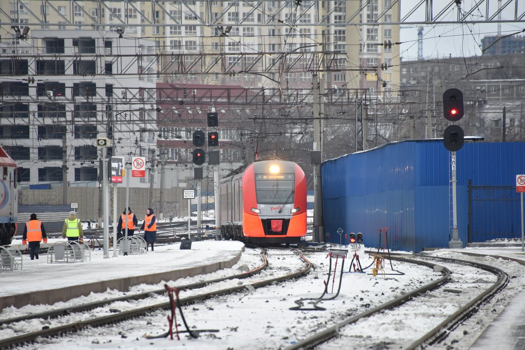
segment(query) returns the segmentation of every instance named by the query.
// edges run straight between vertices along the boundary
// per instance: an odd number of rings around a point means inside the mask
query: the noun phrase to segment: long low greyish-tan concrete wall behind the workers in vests
[[[164,218],[187,215],[187,200],[182,198],[183,188],[164,189]],[[100,194],[102,192],[100,191]],[[96,187],[69,187],[68,204],[78,203],[78,217],[82,220],[93,220],[99,217],[99,188]],[[143,219],[146,209],[152,207],[159,214],[160,189],[153,189],[153,203],[148,202],[149,188],[130,188],[129,206],[137,218]],[[125,188],[119,187],[117,193],[117,213],[125,208]],[[61,205],[62,188],[57,189],[19,189],[18,204],[20,205]],[[113,189],[110,189],[110,210],[113,217]],[[38,213],[37,213],[38,214]],[[110,220],[111,221],[111,220]]]

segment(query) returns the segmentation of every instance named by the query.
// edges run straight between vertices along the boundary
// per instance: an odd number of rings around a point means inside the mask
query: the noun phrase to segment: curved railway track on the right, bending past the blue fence
[[[440,270],[443,273],[443,277],[438,280],[427,283],[422,287],[411,290],[406,294],[398,296],[398,298],[385,302],[379,306],[374,307],[373,309],[352,315],[329,328],[317,332],[316,334],[313,334],[310,337],[287,347],[287,350],[311,348],[328,349],[334,347],[338,348],[340,346],[346,346],[348,348],[348,344],[352,344],[351,348],[355,349],[374,346],[380,347],[385,345],[387,347],[403,349],[416,349],[424,346],[435,346],[443,342],[443,340],[448,336],[448,334],[452,332],[461,322],[464,322],[466,319],[468,319],[468,317],[474,314],[481,304],[487,302],[488,300],[493,298],[493,296],[495,296],[500,290],[505,288],[509,281],[508,275],[501,269],[477,262],[426,256],[419,256],[410,259],[401,257],[391,257],[391,259],[421,264],[434,270]],[[467,300],[465,298],[460,300],[458,300],[457,298],[450,298],[450,294],[456,293],[457,290],[449,288],[448,295],[453,305],[447,304],[442,306],[445,306],[445,308],[453,307],[454,311],[444,316],[442,321],[439,322],[436,326],[434,326],[431,330],[427,330],[422,335],[421,333],[419,333],[420,335],[417,336],[417,338],[409,340],[408,342],[406,340],[397,340],[398,343],[396,343],[396,340],[385,339],[385,337],[382,336],[383,334],[392,333],[388,333],[388,328],[383,327],[385,325],[384,321],[379,319],[376,320],[374,319],[374,317],[383,317],[384,319],[385,313],[388,312],[392,315],[392,319],[395,319],[397,321],[408,320],[411,318],[411,315],[412,318],[414,318],[415,310],[417,310],[418,307],[421,308],[421,306],[423,305],[420,302],[422,299],[425,299],[425,295],[427,295],[425,294],[426,292],[433,291],[432,294],[436,295],[437,293],[443,293],[447,291],[447,286],[450,285],[451,282],[453,282],[451,281],[452,274],[447,267],[441,266],[438,263],[443,265],[448,264],[455,266],[458,266],[459,264],[465,268],[476,269],[477,271],[486,271],[495,276],[496,281],[490,283],[489,287],[487,288],[480,287],[477,295],[473,298],[467,298]],[[446,303],[446,301],[444,301],[443,299],[440,302]],[[425,307],[428,306],[428,303],[429,300],[425,299]],[[457,307],[458,303],[461,304],[460,307]],[[439,311],[436,311],[438,310],[438,306],[436,306],[435,304],[432,305],[434,306],[428,307],[430,307],[430,309],[434,307],[433,312],[439,313]],[[398,311],[401,310],[403,307],[408,307],[408,309],[412,311],[408,311],[404,314]],[[413,313],[411,314],[411,312]],[[430,315],[428,317],[430,317]],[[403,326],[406,327],[407,324],[408,322],[405,323]],[[357,329],[361,331],[355,332],[356,328],[352,328],[350,327],[350,325],[356,325],[356,327],[358,327]],[[381,325],[381,328],[376,328],[377,325]],[[378,331],[375,332],[375,335],[373,331],[365,331],[374,329]],[[381,331],[379,331],[379,329],[381,329]],[[360,336],[356,337],[356,333],[359,333]]]

